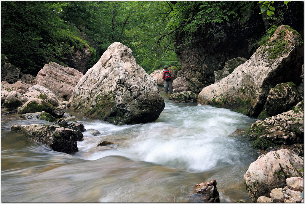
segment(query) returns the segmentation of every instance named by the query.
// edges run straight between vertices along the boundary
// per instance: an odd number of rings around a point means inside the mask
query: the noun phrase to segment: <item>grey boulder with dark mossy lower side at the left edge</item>
[[[23,96],[21,93],[19,93],[17,91],[11,91],[5,98],[5,101],[1,107],[6,107],[9,109],[9,111],[13,111],[17,107],[22,106],[28,100],[29,100],[29,98],[26,96]]]

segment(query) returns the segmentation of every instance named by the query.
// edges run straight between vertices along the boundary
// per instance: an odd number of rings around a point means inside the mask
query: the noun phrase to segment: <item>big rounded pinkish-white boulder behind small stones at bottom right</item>
[[[292,150],[280,149],[261,155],[250,164],[244,175],[246,188],[252,202],[260,196],[270,196],[276,186],[285,186],[290,177],[303,177],[304,158]]]

